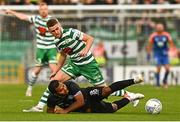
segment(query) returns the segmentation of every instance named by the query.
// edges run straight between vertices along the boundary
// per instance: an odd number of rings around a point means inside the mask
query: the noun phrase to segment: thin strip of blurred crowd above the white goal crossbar
[[[101,4],[178,4],[180,0],[0,0],[1,5],[36,5],[39,2],[49,5],[101,5]]]

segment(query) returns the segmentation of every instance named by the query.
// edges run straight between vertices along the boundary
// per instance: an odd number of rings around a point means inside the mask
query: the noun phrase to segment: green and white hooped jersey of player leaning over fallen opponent
[[[63,51],[70,56],[70,60],[76,65],[88,64],[94,60],[89,51],[86,56],[80,56],[80,52],[85,48],[85,42],[82,41],[83,32],[69,28],[62,29],[62,37],[55,39],[55,45],[58,51]]]

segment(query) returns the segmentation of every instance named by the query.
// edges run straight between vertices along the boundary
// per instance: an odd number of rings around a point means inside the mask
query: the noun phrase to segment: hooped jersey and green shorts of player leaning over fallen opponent
[[[104,86],[104,79],[99,70],[97,62],[95,61],[95,58],[89,49],[86,51],[86,44],[82,41],[84,37],[87,38],[87,40],[90,40],[91,37],[83,34],[79,30],[72,28],[61,28],[61,31],[62,36],[55,40],[55,45],[60,51],[61,56],[65,57],[66,55],[69,55],[70,58],[68,63],[62,67],[62,71],[68,74],[71,78],[76,78],[80,75],[83,75],[94,86]]]

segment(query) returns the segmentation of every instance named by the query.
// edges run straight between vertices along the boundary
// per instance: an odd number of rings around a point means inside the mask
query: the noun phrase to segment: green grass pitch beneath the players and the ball
[[[33,97],[25,97],[26,85],[0,85],[0,120],[1,121],[180,121],[180,86],[171,86],[168,89],[153,86],[134,85],[128,87],[129,91],[140,92],[145,98],[134,108],[131,104],[116,113],[92,114],[47,114],[23,113],[22,110],[35,105],[46,85],[36,85]],[[146,101],[157,98],[162,102],[163,110],[158,115],[147,114],[144,110]],[[119,97],[109,97],[108,101],[117,100]]]

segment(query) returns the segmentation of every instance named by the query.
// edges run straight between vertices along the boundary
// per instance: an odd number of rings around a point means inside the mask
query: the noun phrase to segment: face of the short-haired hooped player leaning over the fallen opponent
[[[49,32],[55,36],[56,38],[60,38],[61,35],[62,35],[62,32],[61,32],[61,26],[59,23],[55,24],[54,26],[52,27],[49,27]]]

